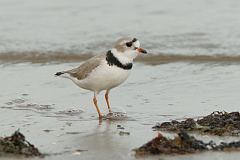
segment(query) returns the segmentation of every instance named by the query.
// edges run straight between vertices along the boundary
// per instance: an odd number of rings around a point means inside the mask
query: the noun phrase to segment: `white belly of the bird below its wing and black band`
[[[105,63],[93,70],[87,78],[72,80],[81,88],[100,92],[120,85],[128,78],[129,73],[130,70],[109,66]]]

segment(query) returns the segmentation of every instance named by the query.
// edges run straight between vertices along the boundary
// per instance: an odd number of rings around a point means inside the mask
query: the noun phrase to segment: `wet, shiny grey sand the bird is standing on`
[[[1,64],[1,136],[19,128],[41,152],[50,154],[45,159],[136,159],[132,149],[157,135],[152,130],[157,122],[198,117],[215,110],[239,111],[240,65],[137,63],[130,78],[110,94],[113,110],[126,112],[128,117],[99,122],[92,93],[79,89],[70,80],[53,76],[56,71],[78,65]],[[98,100],[107,114],[104,95],[100,94]],[[120,131],[130,135],[120,135]],[[239,139],[196,137],[217,142]],[[239,156],[239,152],[210,152],[144,158],[212,160]]]

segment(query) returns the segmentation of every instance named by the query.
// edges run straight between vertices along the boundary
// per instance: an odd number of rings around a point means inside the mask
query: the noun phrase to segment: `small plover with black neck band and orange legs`
[[[147,51],[140,48],[137,38],[120,38],[106,53],[86,60],[77,68],[57,72],[55,76],[70,79],[80,88],[92,91],[93,103],[101,119],[103,114],[97,103],[98,94],[105,91],[108,111],[112,113],[108,99],[109,92],[128,78],[133,60],[142,53],[147,54]]]

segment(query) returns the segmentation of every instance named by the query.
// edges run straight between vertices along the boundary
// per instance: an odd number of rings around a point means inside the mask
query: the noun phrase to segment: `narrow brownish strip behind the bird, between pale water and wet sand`
[[[102,51],[102,54],[105,53]],[[0,53],[1,63],[74,63],[85,61],[94,54],[78,53],[67,54],[64,52],[5,52]],[[160,54],[160,53],[148,53],[148,55],[141,55],[135,59],[136,62],[159,65],[163,63],[172,62],[188,62],[188,63],[223,63],[223,64],[240,64],[239,55],[181,55],[181,54]]]

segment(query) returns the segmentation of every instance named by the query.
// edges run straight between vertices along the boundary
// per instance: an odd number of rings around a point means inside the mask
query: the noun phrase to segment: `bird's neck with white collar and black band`
[[[126,59],[125,57],[123,57],[120,54],[121,53],[116,53],[116,52],[113,52],[112,50],[109,50],[106,53],[106,61],[107,61],[108,65],[109,66],[115,65],[124,70],[132,69],[132,66],[133,66],[132,61],[129,61],[128,59]]]

